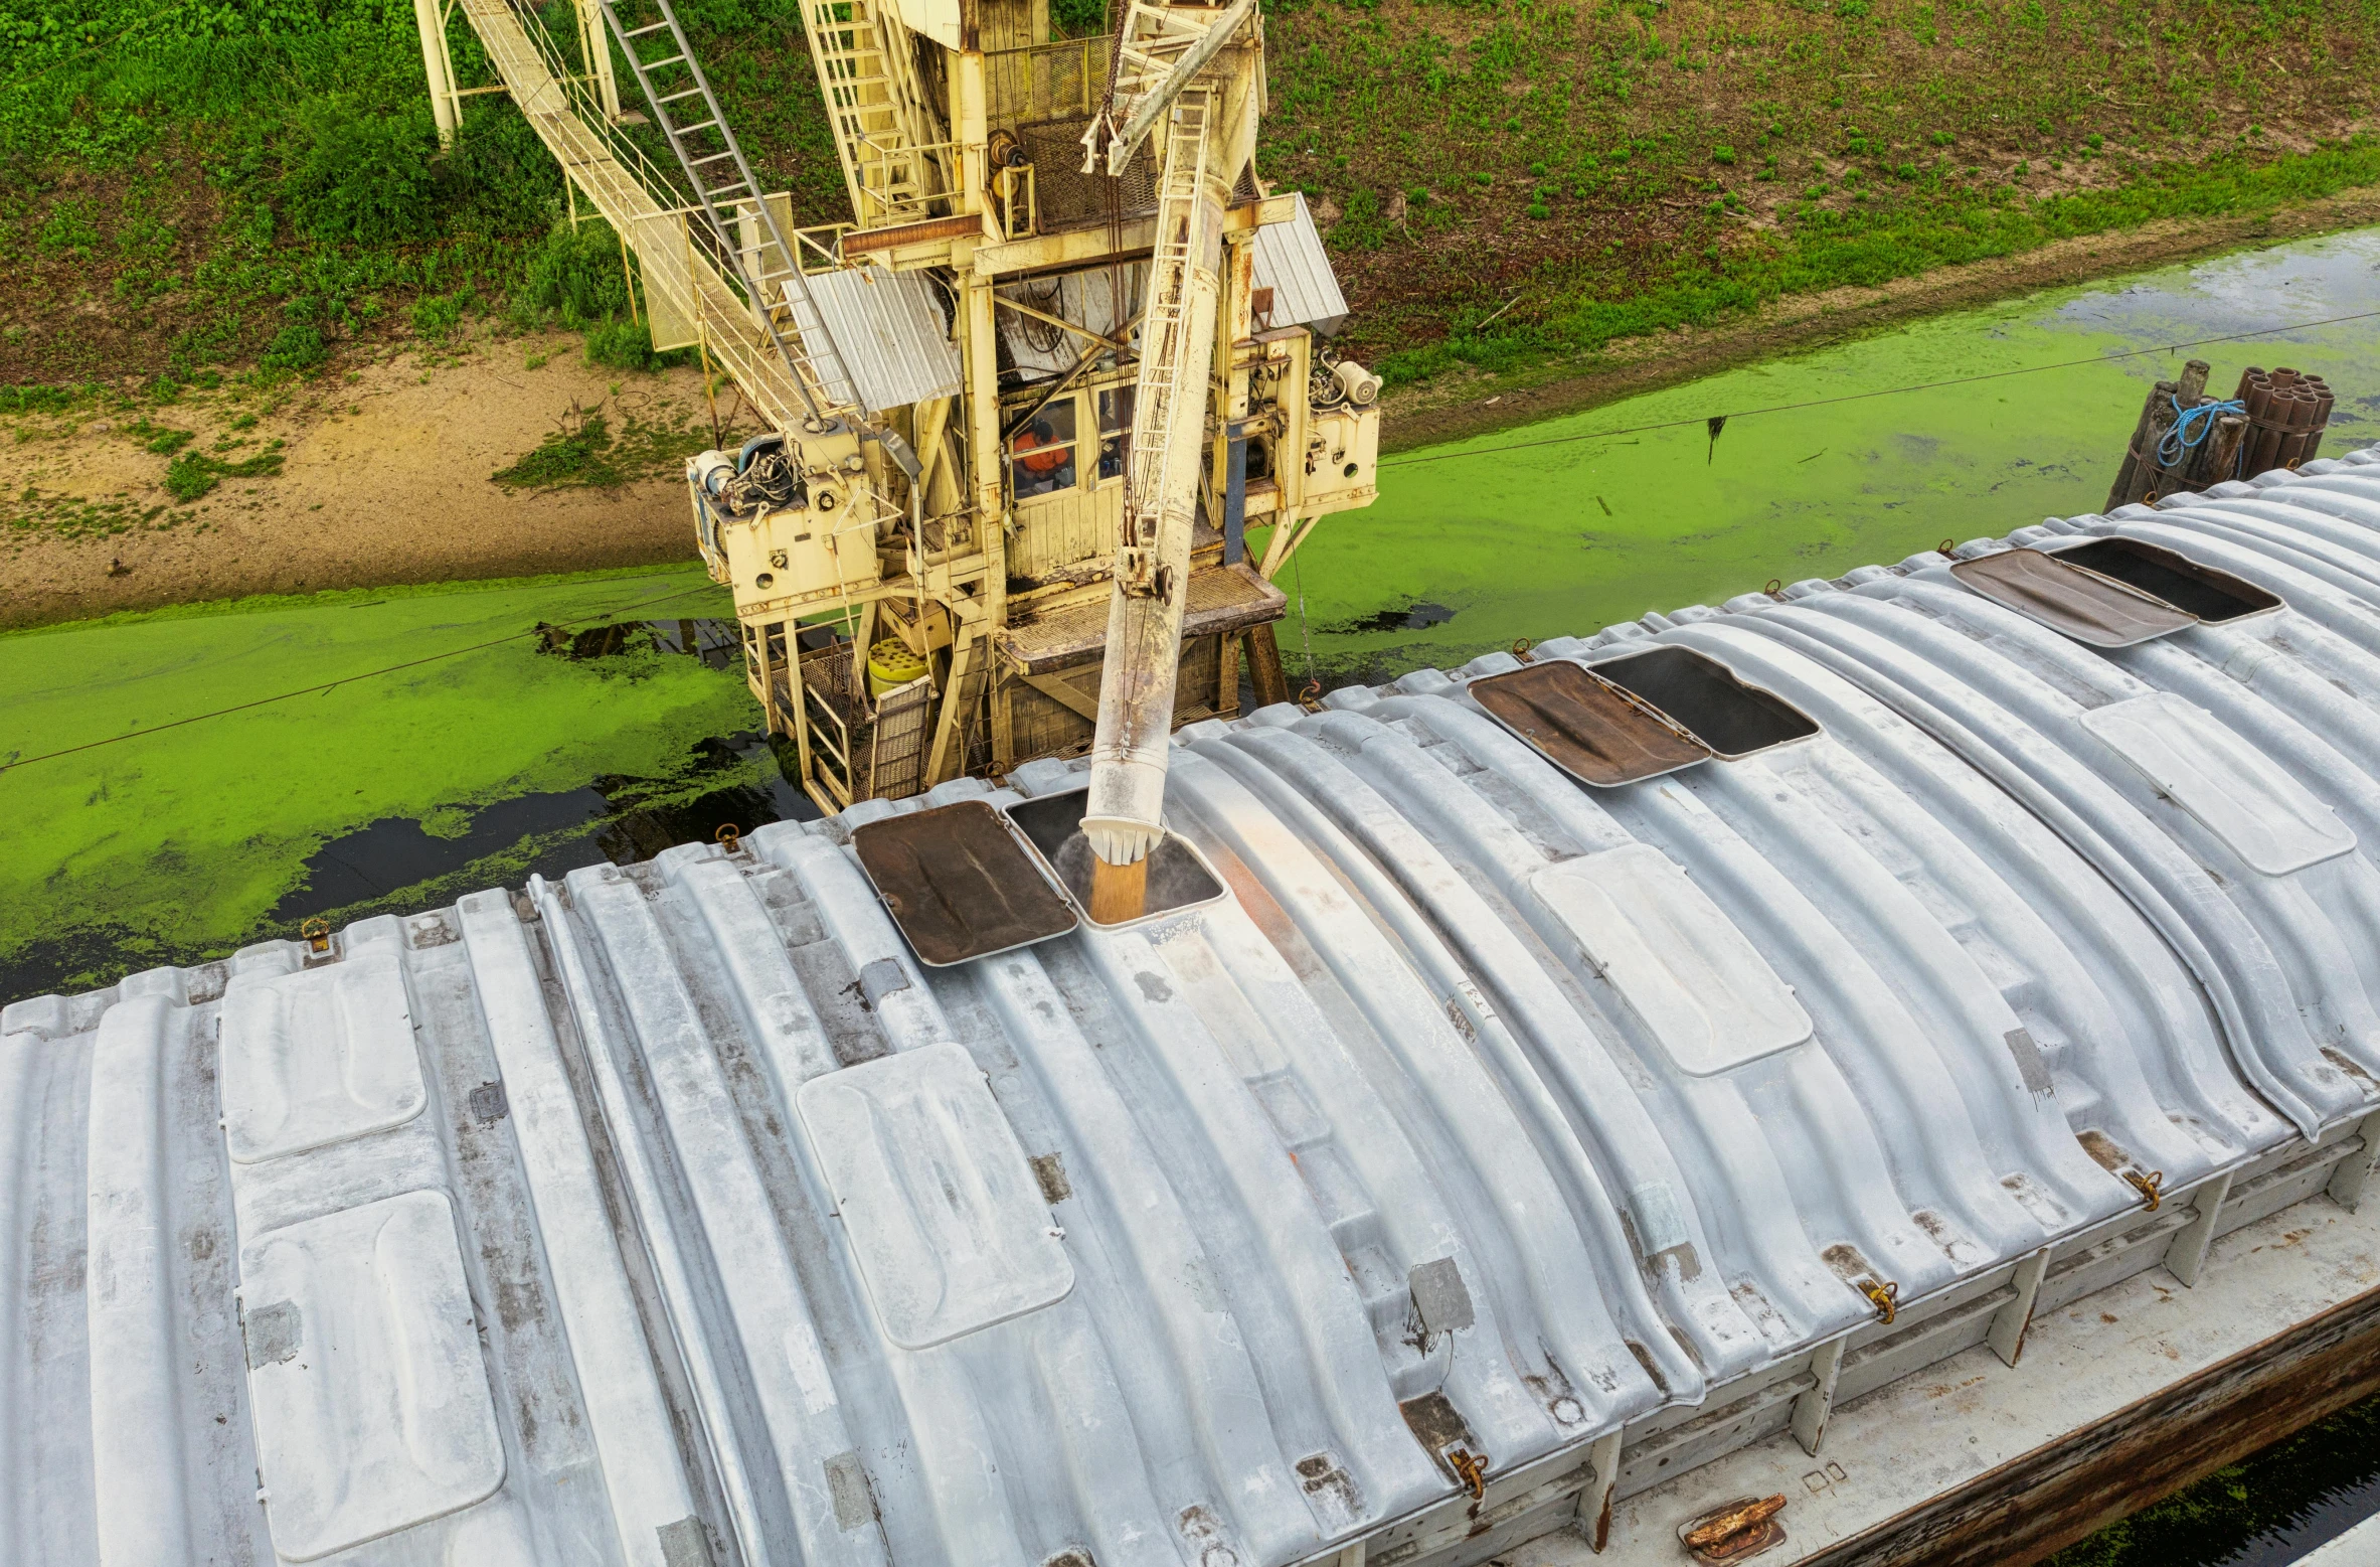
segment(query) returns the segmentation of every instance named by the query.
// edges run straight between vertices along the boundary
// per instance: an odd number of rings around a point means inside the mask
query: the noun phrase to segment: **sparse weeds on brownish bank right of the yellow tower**
[[[1404,383],[2380,179],[2368,0],[1276,0],[1266,29],[1259,171]]]

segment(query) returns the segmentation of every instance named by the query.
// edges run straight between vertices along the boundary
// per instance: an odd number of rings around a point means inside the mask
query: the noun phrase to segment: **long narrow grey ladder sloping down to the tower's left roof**
[[[785,241],[776,212],[769,210],[743,143],[735,141],[735,131],[728,129],[726,114],[719,110],[719,98],[695,60],[695,45],[685,38],[678,12],[669,0],[597,2],[605,21],[612,24],[612,36],[619,38],[621,55],[628,57],[635,86],[645,90],[654,124],[693,186],[695,202],[745,286],[754,324],[793,374],[809,417],[819,422],[838,410],[857,407],[852,376],[826,331],[800,257]],[[631,26],[621,17],[621,10],[631,5],[652,12],[654,21]],[[747,236],[757,236],[759,243],[745,243]]]

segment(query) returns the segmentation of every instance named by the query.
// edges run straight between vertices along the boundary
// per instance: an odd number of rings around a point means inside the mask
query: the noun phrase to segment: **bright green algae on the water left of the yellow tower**
[[[0,636],[12,845],[0,972],[21,981],[0,988],[81,988],[290,934],[326,869],[309,860],[374,822],[455,841],[497,800],[569,795],[595,776],[638,779],[647,798],[716,788],[733,767],[700,743],[752,722],[733,667],[650,645],[574,662],[540,653],[533,629],[724,607],[726,593],[688,567],[240,600]],[[469,864],[476,884],[516,879],[597,822],[531,826]],[[600,857],[578,843],[574,862]],[[371,903],[338,898],[357,912]]]

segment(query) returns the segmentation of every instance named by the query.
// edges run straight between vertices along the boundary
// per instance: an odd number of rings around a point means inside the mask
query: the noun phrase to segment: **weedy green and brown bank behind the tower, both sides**
[[[685,14],[764,179],[845,217],[793,0]],[[1309,193],[1349,345],[1395,383],[2380,179],[2380,0],[1278,0],[1266,26],[1259,171]],[[412,7],[0,0],[0,383],[169,395],[533,324],[652,362],[616,241],[557,229],[502,98],[438,152]]]

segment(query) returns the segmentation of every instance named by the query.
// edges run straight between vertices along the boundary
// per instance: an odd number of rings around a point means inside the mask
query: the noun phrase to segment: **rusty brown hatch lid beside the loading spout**
[[[852,831],[859,869],[876,884],[921,962],[947,967],[1073,929],[1033,850],[983,800],[959,800]]]

